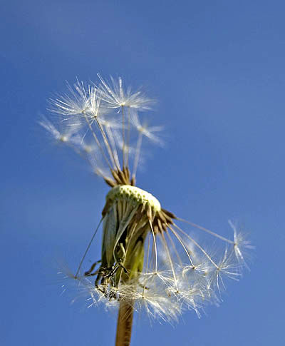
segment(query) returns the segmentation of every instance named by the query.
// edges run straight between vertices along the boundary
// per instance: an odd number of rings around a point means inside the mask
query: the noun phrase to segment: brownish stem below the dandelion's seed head
[[[121,300],[115,346],[129,346],[133,326],[133,301]]]

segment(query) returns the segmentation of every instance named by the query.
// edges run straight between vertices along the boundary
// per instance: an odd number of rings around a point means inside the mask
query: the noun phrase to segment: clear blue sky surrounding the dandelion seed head
[[[135,319],[133,345],[284,342],[284,1],[2,1],[1,345],[113,345],[115,314],[61,295],[108,187],[36,122],[65,81],[123,76],[165,124],[139,185],[176,214],[257,250],[220,307],[172,327]],[[100,248],[100,238],[97,239]]]

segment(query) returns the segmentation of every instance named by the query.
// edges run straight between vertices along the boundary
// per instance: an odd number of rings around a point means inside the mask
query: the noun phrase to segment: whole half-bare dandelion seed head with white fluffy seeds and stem
[[[121,78],[108,83],[98,77],[91,86],[68,85],[68,93],[51,101],[61,130],[47,119],[40,124],[85,158],[110,187],[86,252],[76,272],[66,276],[85,290],[89,306],[118,307],[115,345],[130,345],[135,311],[171,322],[185,309],[200,316],[205,305],[218,304],[225,279],[239,280],[252,246],[232,222],[233,238],[225,238],[178,218],[136,185],[142,141],[161,143],[162,128],[140,118],[140,111],[150,109],[150,98],[125,90]],[[101,224],[100,260],[86,268]],[[214,239],[215,249],[209,246]]]

